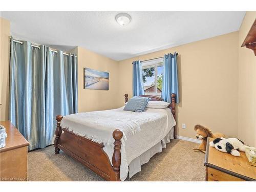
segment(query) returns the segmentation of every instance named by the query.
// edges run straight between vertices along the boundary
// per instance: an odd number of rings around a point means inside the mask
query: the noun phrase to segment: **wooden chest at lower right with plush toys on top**
[[[206,181],[256,181],[256,167],[249,164],[244,152],[232,156],[210,147],[212,138],[207,138],[205,154]]]

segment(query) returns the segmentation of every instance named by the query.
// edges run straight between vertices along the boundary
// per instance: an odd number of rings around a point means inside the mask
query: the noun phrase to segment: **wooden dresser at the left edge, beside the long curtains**
[[[0,181],[27,181],[29,142],[10,121],[1,121],[6,128],[6,146],[0,148]]]

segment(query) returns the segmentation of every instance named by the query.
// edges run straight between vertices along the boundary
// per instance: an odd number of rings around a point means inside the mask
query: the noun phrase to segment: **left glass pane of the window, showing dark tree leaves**
[[[143,66],[143,86],[145,95],[152,95],[155,93],[155,65]]]

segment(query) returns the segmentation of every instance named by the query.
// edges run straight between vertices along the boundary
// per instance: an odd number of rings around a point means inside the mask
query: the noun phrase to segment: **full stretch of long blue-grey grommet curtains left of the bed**
[[[9,119],[29,141],[29,150],[52,143],[55,115],[77,112],[77,62],[46,46],[11,37]]]

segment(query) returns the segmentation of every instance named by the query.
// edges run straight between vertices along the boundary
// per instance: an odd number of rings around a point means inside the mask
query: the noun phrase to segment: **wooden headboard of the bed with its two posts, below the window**
[[[128,94],[124,94],[124,97],[125,97],[125,102],[128,101]],[[157,96],[154,96],[154,95],[140,95],[140,97],[148,97],[148,98],[151,98],[152,101],[162,101],[163,99],[160,98],[160,97],[157,97]],[[168,108],[170,110],[172,110],[172,114],[174,116],[174,119],[176,121],[176,94],[175,93],[172,93],[170,94],[170,97],[172,98],[172,101],[170,102]],[[176,121],[177,123],[177,121]],[[174,139],[177,138],[177,126],[175,125],[174,126]]]

